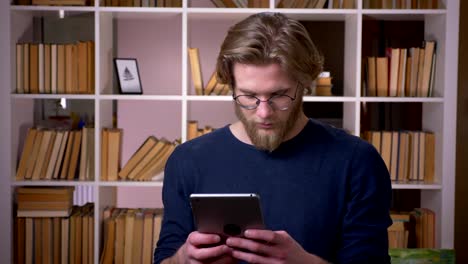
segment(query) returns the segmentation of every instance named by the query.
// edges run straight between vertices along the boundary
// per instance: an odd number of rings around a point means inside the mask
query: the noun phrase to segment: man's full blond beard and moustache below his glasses
[[[257,149],[273,152],[279,147],[279,145],[281,145],[288,132],[291,131],[293,126],[298,121],[297,119],[302,112],[302,97],[299,96],[296,101],[293,102],[291,105],[291,112],[289,113],[286,121],[278,121],[274,119],[261,120],[262,122],[268,121],[273,124],[274,131],[269,135],[262,135],[258,133],[257,123],[255,121],[248,120],[244,113],[242,113],[242,109],[238,104],[235,104],[235,112],[237,118],[239,118],[239,120],[244,125],[245,131],[247,132],[247,135],[249,136],[252,144]]]

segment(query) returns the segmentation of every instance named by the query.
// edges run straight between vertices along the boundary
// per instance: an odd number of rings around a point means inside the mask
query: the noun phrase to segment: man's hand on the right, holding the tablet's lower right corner
[[[236,259],[255,264],[325,264],[325,260],[306,252],[285,231],[246,230],[244,237],[230,237],[226,245],[233,248]]]

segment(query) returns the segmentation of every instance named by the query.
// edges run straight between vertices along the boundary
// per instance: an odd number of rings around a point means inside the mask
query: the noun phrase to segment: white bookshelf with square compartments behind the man
[[[2,186],[1,235],[9,237],[0,242],[5,261],[12,259],[12,193],[17,186],[88,186],[94,195],[95,252],[99,252],[102,235],[100,218],[107,205],[128,207],[161,206],[161,182],[104,182],[100,172],[100,129],[111,127],[113,113],[117,111],[117,126],[124,129],[122,165],[149,135],[168,140],[187,138],[187,121],[198,120],[202,125],[221,127],[235,121],[230,96],[196,96],[191,83],[188,47],[200,48],[203,79],[208,81],[214,70],[219,45],[225,31],[236,21],[262,11],[279,11],[306,21],[319,33],[328,26],[342,28],[336,43],[331,45],[342,56],[335,66],[340,72],[341,95],[330,97],[306,96],[304,102],[312,108],[337,105],[340,125],[354,135],[360,135],[361,104],[363,103],[421,103],[423,129],[436,134],[434,184],[394,183],[394,189],[420,190],[421,206],[436,212],[436,245],[453,248],[454,240],[454,190],[455,190],[455,131],[457,102],[458,60],[458,0],[441,0],[442,9],[363,9],[356,0],[353,9],[284,9],[275,8],[278,0],[269,0],[269,8],[215,8],[208,0],[184,0],[182,7],[104,7],[95,1],[94,6],[15,6],[4,1],[0,11],[3,36],[1,74],[2,160],[4,173]],[[94,94],[16,94],[15,43],[33,41],[33,17],[45,17],[57,26],[60,10],[66,19],[85,21],[79,28],[63,26],[67,35],[47,31],[43,36],[53,41],[93,40],[95,42],[95,93]],[[361,94],[362,25],[365,20],[382,21],[416,20],[424,22],[424,36],[435,38],[437,71],[435,96],[431,98],[365,97]],[[59,21],[60,23],[60,21]],[[46,23],[47,24],[47,23]],[[151,25],[151,26],[149,26]],[[318,37],[312,36],[312,39]],[[328,41],[335,41],[328,36]],[[331,38],[331,39],[330,39]],[[326,42],[325,42],[326,43]],[[338,48],[337,48],[338,47]],[[326,47],[323,48],[324,52]],[[332,48],[332,51],[333,51]],[[114,57],[138,59],[143,95],[120,95],[115,85]],[[94,115],[95,123],[95,179],[91,181],[15,181],[17,157],[22,151],[25,128],[35,122],[38,102],[65,98],[71,102],[91,105],[87,109]],[[79,108],[78,108],[79,109]],[[136,116],[140,118],[135,118]],[[150,201],[149,201],[150,200]],[[10,250],[8,250],[10,249]],[[99,255],[94,256],[95,263]]]

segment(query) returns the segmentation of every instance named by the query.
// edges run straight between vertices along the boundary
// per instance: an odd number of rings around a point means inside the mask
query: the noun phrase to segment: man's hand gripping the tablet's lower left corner
[[[197,231],[190,233],[185,243],[177,253],[163,263],[191,264],[234,264],[238,260],[231,256],[232,249],[215,234],[202,234]]]

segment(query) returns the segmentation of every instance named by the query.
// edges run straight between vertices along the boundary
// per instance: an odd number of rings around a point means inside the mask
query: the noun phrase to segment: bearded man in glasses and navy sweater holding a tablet
[[[322,61],[304,27],[284,15],[255,14],[229,30],[217,73],[233,89],[239,121],[168,160],[155,263],[389,263],[384,162],[302,110]],[[267,229],[220,243],[195,230],[191,193],[258,193]]]

